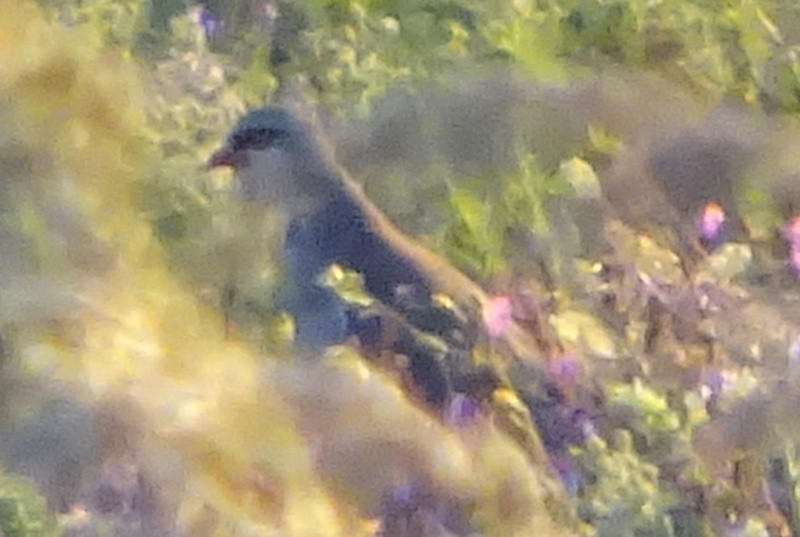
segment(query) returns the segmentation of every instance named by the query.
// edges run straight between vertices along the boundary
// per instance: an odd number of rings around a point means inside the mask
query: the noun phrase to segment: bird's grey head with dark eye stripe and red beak
[[[236,175],[236,193],[247,200],[288,208],[321,195],[330,165],[311,129],[283,108],[251,110],[231,131],[207,167],[227,166]]]

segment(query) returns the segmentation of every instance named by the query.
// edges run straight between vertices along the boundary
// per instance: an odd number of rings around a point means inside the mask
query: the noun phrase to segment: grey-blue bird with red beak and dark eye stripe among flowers
[[[543,432],[558,438],[542,438],[540,427],[581,425],[561,419],[564,400],[535,337],[513,316],[500,330],[492,325],[496,297],[398,230],[337,163],[325,138],[285,108],[246,113],[206,166],[233,168],[236,195],[273,206],[283,221],[296,347],[315,351],[355,336],[407,357],[407,377],[429,409],[448,423],[463,397],[475,402],[541,468],[548,501],[565,520],[577,520],[547,451],[560,450],[565,433],[549,427]],[[348,304],[321,284],[332,264],[359,273],[377,306]],[[437,295],[452,306],[440,305]],[[445,350],[420,332],[442,336]],[[490,354],[475,360],[475,345]]]

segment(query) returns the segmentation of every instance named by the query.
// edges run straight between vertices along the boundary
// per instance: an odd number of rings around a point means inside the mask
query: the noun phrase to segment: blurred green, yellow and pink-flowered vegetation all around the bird
[[[800,532],[793,2],[0,6],[0,535]],[[202,169],[269,102],[531,321],[579,524],[491,420],[291,359],[274,215]]]

